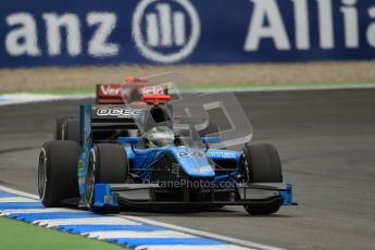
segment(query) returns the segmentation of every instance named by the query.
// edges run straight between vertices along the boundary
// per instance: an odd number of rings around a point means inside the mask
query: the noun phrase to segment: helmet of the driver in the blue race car
[[[145,135],[147,146],[154,147],[168,147],[173,145],[175,136],[173,130],[166,126],[157,126],[148,130]]]

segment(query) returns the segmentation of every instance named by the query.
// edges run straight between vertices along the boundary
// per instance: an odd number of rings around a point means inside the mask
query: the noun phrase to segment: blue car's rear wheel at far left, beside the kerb
[[[38,164],[38,192],[47,208],[79,197],[77,163],[80,154],[75,141],[52,140],[43,143]]]

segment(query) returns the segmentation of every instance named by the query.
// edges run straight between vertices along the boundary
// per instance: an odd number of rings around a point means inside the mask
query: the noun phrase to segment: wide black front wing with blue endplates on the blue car
[[[95,207],[204,207],[296,204],[287,183],[237,184],[235,188],[166,189],[158,184],[96,184]]]

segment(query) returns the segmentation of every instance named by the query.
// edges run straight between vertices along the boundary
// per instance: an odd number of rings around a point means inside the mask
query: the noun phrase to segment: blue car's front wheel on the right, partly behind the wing
[[[282,162],[274,146],[246,145],[242,154],[245,179],[248,183],[283,183]],[[249,214],[276,213],[280,203],[245,205]]]

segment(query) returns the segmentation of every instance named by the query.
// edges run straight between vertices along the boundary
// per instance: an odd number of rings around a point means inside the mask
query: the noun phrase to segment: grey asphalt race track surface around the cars
[[[238,93],[254,142],[274,143],[299,207],[249,216],[241,207],[204,212],[126,212],[288,249],[374,249],[375,89]],[[0,107],[0,185],[37,192],[38,147],[54,117],[86,101]]]

